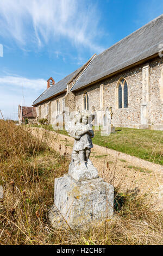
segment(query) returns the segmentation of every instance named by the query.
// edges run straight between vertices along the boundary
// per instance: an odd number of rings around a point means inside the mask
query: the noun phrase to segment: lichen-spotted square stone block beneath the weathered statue
[[[114,187],[102,178],[76,181],[65,174],[55,179],[54,205],[49,210],[49,220],[54,228],[81,227],[112,217],[113,204]]]

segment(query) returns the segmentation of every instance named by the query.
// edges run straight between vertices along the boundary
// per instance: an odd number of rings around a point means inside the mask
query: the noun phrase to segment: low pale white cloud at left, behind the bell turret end
[[[18,104],[31,106],[33,101],[46,90],[46,86],[47,82],[43,79],[0,77],[0,109],[4,118],[17,119]]]

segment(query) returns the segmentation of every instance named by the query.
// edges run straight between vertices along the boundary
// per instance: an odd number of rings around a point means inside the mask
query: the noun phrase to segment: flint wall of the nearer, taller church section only
[[[149,98],[147,124],[141,118],[141,106],[143,104],[143,67],[149,65]],[[89,109],[93,107],[96,111],[106,111],[106,107],[112,106],[112,124],[116,127],[133,127],[138,129],[163,130],[163,101],[161,99],[161,71],[163,69],[163,58],[158,57],[148,63],[138,65],[132,69],[112,76],[102,82],[93,84],[76,92],[76,109],[84,108],[83,95],[89,95]],[[117,83],[123,77],[128,83],[128,108],[117,108]],[[104,84],[104,107],[100,104],[100,86]],[[101,117],[102,119],[103,117]],[[101,124],[103,120],[101,120]]]

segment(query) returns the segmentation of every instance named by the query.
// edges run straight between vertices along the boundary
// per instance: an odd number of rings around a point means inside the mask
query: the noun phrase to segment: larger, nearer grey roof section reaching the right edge
[[[77,90],[159,52],[163,43],[163,15],[97,55],[72,87]]]

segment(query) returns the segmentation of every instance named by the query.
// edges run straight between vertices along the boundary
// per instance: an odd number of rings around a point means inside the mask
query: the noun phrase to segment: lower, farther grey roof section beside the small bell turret
[[[79,68],[80,69],[80,68]],[[50,88],[46,89],[45,92],[43,92],[34,102],[33,105],[38,104],[39,102],[42,102],[49,97],[52,97],[54,95],[57,95],[59,93],[62,93],[67,88],[67,83],[71,80],[71,78],[78,73],[78,70],[72,72],[70,75],[66,76],[59,82],[55,83],[54,86],[51,86]]]

